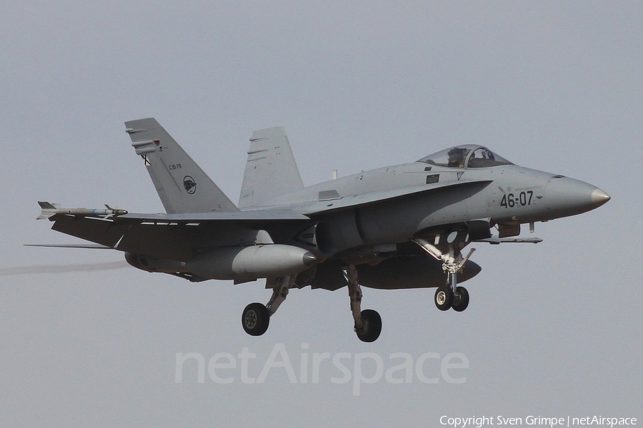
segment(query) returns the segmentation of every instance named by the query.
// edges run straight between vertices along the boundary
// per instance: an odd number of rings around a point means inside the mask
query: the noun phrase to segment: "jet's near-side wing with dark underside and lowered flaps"
[[[197,214],[127,214],[111,218],[56,214],[53,230],[100,248],[187,261],[213,248],[290,239],[311,220],[281,210]],[[96,248],[92,246],[92,248]]]

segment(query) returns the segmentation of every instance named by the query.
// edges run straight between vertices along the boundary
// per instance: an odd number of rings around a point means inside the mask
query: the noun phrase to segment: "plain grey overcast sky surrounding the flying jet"
[[[642,423],[642,34],[638,1],[2,2],[0,425]],[[365,289],[384,327],[364,344],[346,290],[306,288],[249,337],[241,310],[268,300],[263,283],[195,285],[114,269],[116,252],[21,246],[77,242],[36,222],[38,200],[162,210],[124,133],[149,116],[232,200],[249,136],[268,126],[286,127],[306,184],[480,143],[612,200],[537,224],[542,244],[477,245],[483,270],[461,314],[439,312],[433,290]],[[104,270],[18,269],[94,264]],[[298,376],[323,352],[374,352],[384,370],[401,361],[394,352],[459,352],[469,368],[451,384],[429,359],[437,384],[382,377],[359,395],[331,381],[342,372],[328,361],[319,383],[290,383],[279,367],[261,384],[239,367],[221,370],[231,384],[207,372],[198,383],[194,361],[175,382],[177,353],[207,364],[247,347],[258,377],[279,344]],[[353,374],[356,360],[344,360]],[[374,374],[374,360],[364,365]]]

